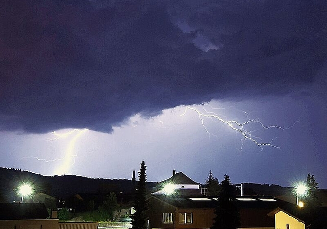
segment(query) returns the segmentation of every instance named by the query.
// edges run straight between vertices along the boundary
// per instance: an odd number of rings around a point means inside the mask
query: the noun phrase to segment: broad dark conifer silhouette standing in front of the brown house
[[[215,209],[216,217],[211,229],[236,229],[240,226],[240,213],[235,197],[235,190],[226,174],[225,179],[221,182],[221,191]]]

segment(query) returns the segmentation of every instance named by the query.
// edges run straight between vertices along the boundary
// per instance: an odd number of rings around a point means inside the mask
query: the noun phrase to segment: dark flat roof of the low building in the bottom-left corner
[[[0,203],[0,220],[46,219],[48,211],[43,203]]]

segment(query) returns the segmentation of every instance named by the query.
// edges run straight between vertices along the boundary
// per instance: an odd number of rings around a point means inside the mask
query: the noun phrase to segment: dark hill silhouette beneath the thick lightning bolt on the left
[[[137,182],[128,179],[87,178],[76,175],[43,176],[2,167],[0,167],[0,180],[0,202],[19,200],[18,186],[22,182],[29,182],[34,187],[34,192],[42,192],[57,199],[65,199],[78,193],[133,193]],[[156,184],[156,182],[147,182],[150,188]]]

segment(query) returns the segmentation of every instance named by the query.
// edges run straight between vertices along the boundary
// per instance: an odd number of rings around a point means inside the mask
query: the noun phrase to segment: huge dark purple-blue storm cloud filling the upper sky
[[[325,4],[3,1],[0,128],[106,132],[138,112],[289,93],[326,60]]]

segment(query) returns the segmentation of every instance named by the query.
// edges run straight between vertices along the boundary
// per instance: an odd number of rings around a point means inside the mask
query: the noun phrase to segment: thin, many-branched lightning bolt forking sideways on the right
[[[203,105],[203,104],[202,104]],[[208,105],[209,106],[209,105]],[[211,106],[209,106],[211,107]],[[211,107],[213,108],[213,107]],[[223,109],[223,108],[213,108],[213,109]],[[196,112],[198,114],[199,119],[201,120],[202,126],[204,128],[204,130],[206,131],[206,133],[209,136],[215,136],[218,138],[217,135],[213,134],[212,132],[210,132],[207,128],[207,126],[205,125],[205,119],[212,119],[212,120],[217,120],[218,122],[221,122],[223,124],[228,125],[228,127],[232,130],[234,130],[236,133],[240,133],[242,136],[241,139],[241,147],[239,149],[239,151],[242,151],[242,147],[244,142],[247,141],[251,141],[252,143],[254,143],[256,146],[259,146],[261,148],[261,150],[263,150],[263,147],[265,146],[269,146],[269,147],[273,147],[276,149],[281,149],[279,146],[273,144],[273,141],[276,139],[271,139],[270,142],[264,142],[261,138],[259,138],[259,136],[255,136],[252,134],[252,130],[250,130],[250,124],[252,123],[256,123],[259,124],[263,129],[271,129],[271,128],[277,128],[277,129],[281,129],[281,130],[287,130],[292,128],[296,123],[300,122],[300,119],[298,119],[297,121],[295,121],[291,126],[289,127],[281,127],[281,126],[277,126],[277,125],[271,125],[271,126],[265,126],[260,119],[250,119],[249,118],[249,113],[246,111],[243,111],[246,114],[246,118],[247,121],[244,123],[238,122],[236,120],[227,120],[227,119],[223,119],[221,118],[221,116],[219,116],[217,113],[215,112],[209,112],[208,110],[205,109],[205,107],[203,107],[204,112],[199,111],[198,109],[196,109],[195,107],[192,106],[186,106],[185,110],[182,114],[180,114],[180,116],[184,116],[186,114],[186,111],[188,110],[192,110],[194,112]]]

